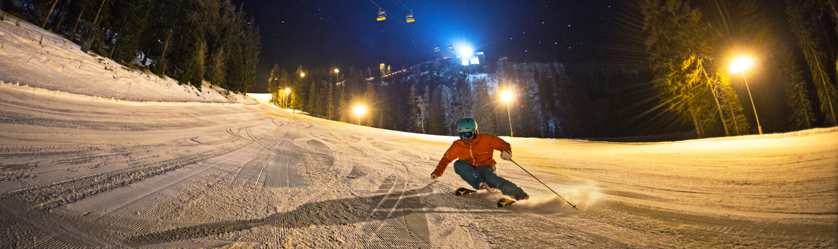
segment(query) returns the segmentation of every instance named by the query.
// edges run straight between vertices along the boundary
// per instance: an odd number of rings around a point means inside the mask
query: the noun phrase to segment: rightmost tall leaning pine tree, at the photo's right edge
[[[809,7],[807,3],[789,3],[786,13],[789,15],[792,32],[798,38],[806,62],[809,64],[812,80],[818,89],[820,111],[825,116],[825,124],[834,126],[838,124],[838,118],[835,117],[838,113],[838,89],[835,89],[835,84],[832,84],[830,75],[826,72],[826,56],[813,35],[812,23],[804,18],[804,8]]]

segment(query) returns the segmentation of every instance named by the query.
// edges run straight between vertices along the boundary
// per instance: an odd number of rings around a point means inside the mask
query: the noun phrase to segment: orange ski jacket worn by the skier
[[[501,140],[495,135],[483,133],[476,134],[474,140],[469,145],[466,145],[463,140],[456,140],[451,145],[451,148],[448,148],[445,152],[445,155],[442,155],[442,160],[439,160],[437,170],[433,170],[433,175],[442,176],[442,172],[445,171],[448,164],[457,159],[465,160],[472,167],[482,165],[494,166],[497,164],[492,158],[494,150],[507,150],[512,153],[512,146],[510,143]]]

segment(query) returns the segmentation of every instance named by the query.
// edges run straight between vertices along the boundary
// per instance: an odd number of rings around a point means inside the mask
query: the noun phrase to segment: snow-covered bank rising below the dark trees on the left
[[[0,22],[0,80],[69,94],[130,101],[258,104],[206,84],[196,89],[128,69],[30,23]],[[221,92],[221,93],[220,93]],[[235,96],[237,95],[237,96]],[[227,97],[227,98],[225,98]]]

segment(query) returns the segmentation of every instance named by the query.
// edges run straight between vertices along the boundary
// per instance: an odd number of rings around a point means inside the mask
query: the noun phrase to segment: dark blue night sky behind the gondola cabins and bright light
[[[625,10],[608,1],[374,0],[387,19],[376,21],[370,0],[239,0],[261,28],[257,91],[266,90],[273,64],[292,71],[338,67],[394,69],[453,56],[447,46],[472,46],[487,60],[591,63],[592,52]],[[405,6],[402,5],[404,3]],[[413,10],[416,22],[406,23]],[[639,11],[638,11],[639,13]],[[606,38],[608,39],[608,38]],[[439,46],[442,52],[434,53]]]

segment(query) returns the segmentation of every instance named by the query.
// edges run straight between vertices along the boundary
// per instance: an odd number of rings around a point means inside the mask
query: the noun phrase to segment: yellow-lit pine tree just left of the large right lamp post
[[[698,10],[680,1],[645,0],[642,9],[644,30],[649,33],[646,52],[661,100],[692,121],[696,136],[709,136],[714,116],[724,119],[708,85],[715,77],[707,73],[712,67],[705,65],[711,58],[711,31]]]

